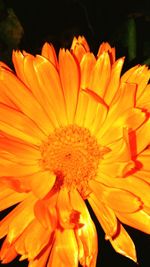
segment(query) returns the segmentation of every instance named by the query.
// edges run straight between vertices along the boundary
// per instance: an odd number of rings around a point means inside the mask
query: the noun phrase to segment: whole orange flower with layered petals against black
[[[94,210],[114,249],[136,261],[121,222],[150,233],[150,71],[84,37],[57,60],[45,43],[36,57],[13,52],[16,74],[0,67],[2,263],[95,267]]]

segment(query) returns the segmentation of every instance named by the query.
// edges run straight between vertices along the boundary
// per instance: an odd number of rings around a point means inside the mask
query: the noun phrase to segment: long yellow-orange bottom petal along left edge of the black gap
[[[79,260],[81,265],[95,267],[97,258],[97,233],[84,200],[76,190],[70,191],[72,207],[81,213],[83,226],[76,230],[76,238],[79,246]]]

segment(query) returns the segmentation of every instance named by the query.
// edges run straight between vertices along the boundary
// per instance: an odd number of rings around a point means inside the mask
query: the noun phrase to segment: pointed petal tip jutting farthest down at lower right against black
[[[110,240],[110,242],[116,252],[137,262],[134,243],[122,225],[120,225],[118,235],[114,239]]]

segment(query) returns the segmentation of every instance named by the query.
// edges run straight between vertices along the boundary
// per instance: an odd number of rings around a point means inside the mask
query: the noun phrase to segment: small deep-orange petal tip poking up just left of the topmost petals
[[[54,46],[49,43],[45,43],[42,47],[41,55],[47,58],[58,69],[57,55]]]

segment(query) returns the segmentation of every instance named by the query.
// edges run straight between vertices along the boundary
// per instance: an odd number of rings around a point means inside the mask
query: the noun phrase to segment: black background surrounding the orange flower
[[[145,53],[144,49],[145,44],[150,42],[150,1],[148,0],[5,0],[6,12],[9,7],[13,8],[24,29],[24,35],[18,45],[19,49],[40,53],[42,44],[49,41],[54,44],[58,52],[59,47],[70,46],[74,35],[81,34],[87,38],[94,53],[101,42],[109,41],[117,48],[118,57],[126,56],[124,69],[136,63],[142,63],[150,57],[149,50],[147,49]],[[128,44],[124,44],[126,33],[123,26],[131,17],[136,23],[137,46],[136,56],[132,60],[129,59]],[[136,267],[134,262],[117,254],[109,242],[104,240],[104,233],[94,214],[90,212],[99,238],[97,267]],[[138,266],[150,266],[148,235],[130,227],[126,229],[136,245]],[[27,262],[19,263],[15,260],[4,266],[27,266]]]

